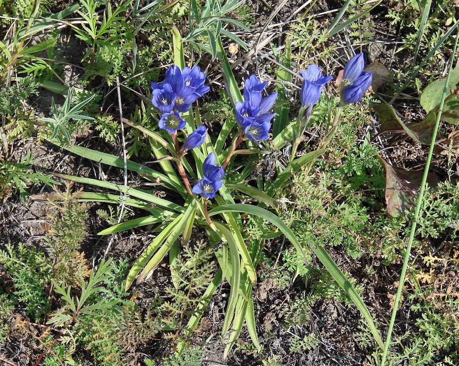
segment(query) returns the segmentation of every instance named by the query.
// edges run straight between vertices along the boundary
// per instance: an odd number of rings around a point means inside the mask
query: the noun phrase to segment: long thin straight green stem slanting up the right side
[[[393,325],[395,323],[395,316],[397,314],[398,304],[400,302],[400,296],[401,296],[401,292],[402,292],[402,289],[403,289],[403,283],[405,282],[405,275],[406,275],[406,269],[408,267],[410,251],[411,251],[411,245],[413,244],[414,234],[416,233],[416,225],[417,225],[418,220],[419,220],[419,212],[421,211],[421,203],[422,203],[422,200],[424,199],[424,190],[425,190],[425,187],[426,187],[427,174],[429,173],[429,167],[430,167],[430,163],[432,161],[432,154],[433,154],[433,151],[434,151],[435,140],[437,138],[437,133],[438,133],[439,125],[440,125],[440,118],[442,116],[443,106],[445,104],[446,95],[449,93],[448,84],[450,82],[450,75],[451,75],[451,71],[453,69],[454,55],[456,54],[456,48],[458,46],[458,38],[459,38],[459,32],[458,32],[458,35],[456,36],[456,43],[454,45],[454,50],[453,50],[453,52],[451,54],[450,68],[448,70],[448,75],[447,75],[446,80],[445,80],[445,86],[444,86],[444,89],[443,89],[443,95],[442,95],[442,99],[440,101],[440,108],[439,108],[439,112],[437,114],[437,121],[435,123],[434,131],[433,131],[433,134],[432,134],[432,141],[430,143],[429,154],[427,155],[426,167],[424,168],[424,175],[422,177],[421,187],[420,187],[420,190],[419,190],[419,196],[418,196],[417,201],[416,201],[416,208],[414,210],[414,219],[413,219],[413,222],[411,223],[410,236],[409,236],[409,239],[408,239],[408,244],[406,245],[405,256],[403,257],[403,266],[402,266],[402,270],[401,270],[401,273],[400,273],[400,280],[398,282],[397,294],[395,295],[395,300],[394,300],[394,304],[393,304],[392,316],[390,317],[389,329],[387,330],[387,338],[386,338],[385,344],[384,344],[384,351],[383,351],[383,356],[382,356],[382,359],[381,359],[381,366],[385,365],[385,360],[387,358],[387,353],[389,351],[390,336],[392,334]]]

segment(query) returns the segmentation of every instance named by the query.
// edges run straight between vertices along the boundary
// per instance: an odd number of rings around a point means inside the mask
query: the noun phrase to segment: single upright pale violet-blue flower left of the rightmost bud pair
[[[333,76],[323,76],[317,65],[310,65],[307,70],[302,70],[303,85],[301,87],[301,105],[305,108],[304,116],[311,116],[312,106],[317,103],[320,98],[320,93],[325,84],[330,81]]]

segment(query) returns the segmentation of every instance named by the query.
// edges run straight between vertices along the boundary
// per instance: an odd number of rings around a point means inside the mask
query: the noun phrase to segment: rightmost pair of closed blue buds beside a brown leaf
[[[344,67],[340,91],[342,103],[357,103],[372,84],[372,74],[364,72],[364,67],[363,53],[355,55]]]

